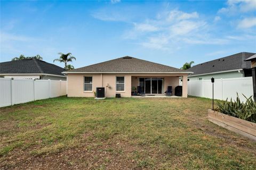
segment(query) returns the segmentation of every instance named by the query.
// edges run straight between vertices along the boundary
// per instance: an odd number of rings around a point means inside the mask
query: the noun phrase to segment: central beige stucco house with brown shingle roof
[[[125,56],[79,69],[67,74],[68,97],[93,97],[97,87],[105,87],[105,97],[131,97],[132,87],[140,86],[146,95],[164,95],[167,86],[179,86],[179,77],[187,80],[186,70]],[[187,97],[187,81],[182,97]]]

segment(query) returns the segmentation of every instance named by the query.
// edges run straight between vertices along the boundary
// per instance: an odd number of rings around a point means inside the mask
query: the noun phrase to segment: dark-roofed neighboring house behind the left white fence
[[[42,80],[66,80],[62,67],[29,58],[0,63],[0,77]]]

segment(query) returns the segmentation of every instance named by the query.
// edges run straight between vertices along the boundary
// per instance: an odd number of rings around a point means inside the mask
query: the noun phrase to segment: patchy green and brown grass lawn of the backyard
[[[1,108],[1,169],[255,169],[256,142],[203,98],[66,98]]]

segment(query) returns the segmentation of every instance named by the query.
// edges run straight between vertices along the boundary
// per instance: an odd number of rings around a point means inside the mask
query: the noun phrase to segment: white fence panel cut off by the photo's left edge
[[[12,105],[11,78],[0,78],[1,107]]]

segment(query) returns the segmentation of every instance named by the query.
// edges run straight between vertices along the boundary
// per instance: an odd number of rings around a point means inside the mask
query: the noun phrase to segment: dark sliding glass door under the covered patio
[[[163,94],[163,78],[140,78],[141,92],[145,94]]]

